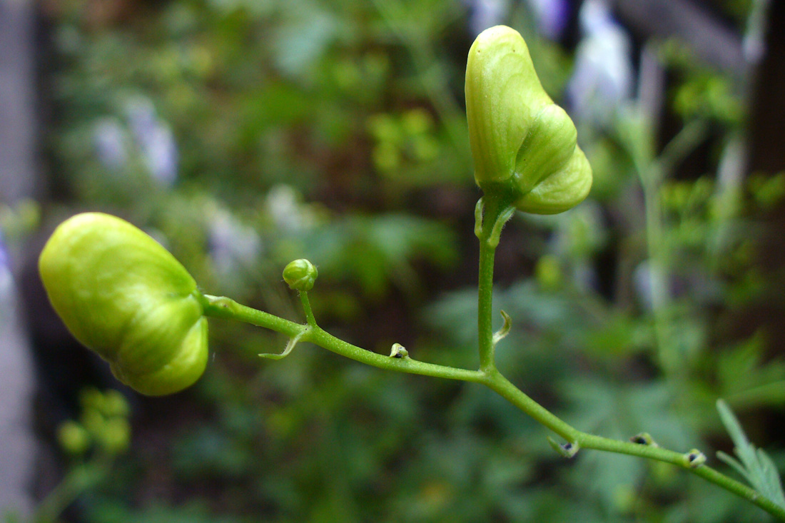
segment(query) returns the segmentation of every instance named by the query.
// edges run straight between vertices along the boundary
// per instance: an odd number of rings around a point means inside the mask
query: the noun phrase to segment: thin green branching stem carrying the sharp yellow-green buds
[[[579,448],[593,448],[604,452],[633,455],[639,458],[653,459],[676,466],[703,477],[728,492],[736,494],[761,509],[769,512],[780,521],[785,521],[785,507],[780,507],[771,499],[762,496],[760,492],[743,485],[743,483],[721,474],[702,461],[696,461],[694,452],[675,452],[661,448],[655,444],[639,444],[630,441],[612,440],[590,433],[582,432],[569,425],[564,420],[554,415],[547,408],[537,403],[526,393],[506,379],[495,366],[494,361],[494,332],[492,327],[492,294],[493,294],[493,265],[495,248],[498,244],[498,235],[504,222],[509,219],[509,204],[486,201],[478,203],[476,212],[476,232],[480,240],[480,276],[478,293],[478,320],[480,348],[480,370],[472,371],[463,368],[453,368],[446,365],[429,364],[414,360],[411,357],[390,357],[373,353],[358,346],[345,342],[340,338],[330,335],[316,324],[313,317],[308,294],[300,293],[303,309],[307,322],[298,324],[294,321],[284,320],[279,316],[252,309],[233,301],[229,298],[203,295],[202,301],[206,316],[239,320],[245,323],[265,327],[272,331],[297,338],[300,342],[311,342],[336,354],[359,361],[373,367],[389,371],[407,372],[409,374],[433,376],[435,378],[456,379],[466,382],[481,383],[511,404],[520,408],[537,422],[552,430],[567,442],[561,445],[564,455],[574,455]]]

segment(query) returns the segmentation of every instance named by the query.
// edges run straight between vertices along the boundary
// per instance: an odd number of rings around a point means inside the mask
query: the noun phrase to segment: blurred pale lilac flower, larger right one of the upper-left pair
[[[126,117],[144,163],[152,177],[170,187],[177,180],[179,155],[170,127],[159,120],[148,98],[134,98],[126,105]]]

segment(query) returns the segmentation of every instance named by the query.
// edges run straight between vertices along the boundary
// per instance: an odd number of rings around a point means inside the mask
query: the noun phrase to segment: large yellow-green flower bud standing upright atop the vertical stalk
[[[556,214],[589,194],[591,167],[572,120],[542,89],[528,47],[506,26],[477,36],[466,63],[466,116],[474,178],[515,207]]]

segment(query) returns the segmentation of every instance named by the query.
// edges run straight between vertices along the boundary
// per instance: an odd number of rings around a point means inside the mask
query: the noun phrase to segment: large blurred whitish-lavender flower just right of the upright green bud
[[[577,119],[604,126],[632,94],[630,37],[603,0],[586,0],[580,22],[584,37],[575,53],[567,97]]]

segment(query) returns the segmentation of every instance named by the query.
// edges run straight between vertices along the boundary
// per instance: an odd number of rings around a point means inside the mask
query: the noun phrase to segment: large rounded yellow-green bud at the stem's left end
[[[207,362],[196,283],[159,243],[108,214],[57,227],[38,261],[54,309],[121,382],[159,396],[192,385]]]

